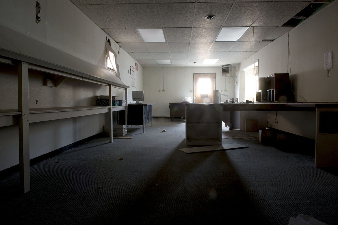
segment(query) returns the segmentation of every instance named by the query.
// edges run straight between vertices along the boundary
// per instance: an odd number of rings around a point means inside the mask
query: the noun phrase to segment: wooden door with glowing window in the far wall
[[[193,103],[213,102],[216,88],[216,73],[194,73]]]

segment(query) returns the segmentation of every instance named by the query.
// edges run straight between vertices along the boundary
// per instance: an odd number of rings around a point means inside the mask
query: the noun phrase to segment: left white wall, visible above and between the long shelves
[[[35,1],[1,0],[0,24],[56,49],[105,68],[106,34],[89,20],[69,0],[46,1],[41,4],[41,22],[35,23]],[[0,35],[1,35],[0,30]],[[112,40],[112,44],[119,46]],[[11,46],[9,49],[13,48]],[[39,51],[39,46],[37,46]],[[135,60],[120,49],[117,62],[121,80],[130,86],[130,66]],[[132,89],[143,89],[143,68],[138,66],[136,87],[128,90],[131,101]],[[97,95],[107,95],[108,87],[68,78],[62,87],[43,85],[46,75],[33,72],[29,76],[29,107],[72,107],[95,105]],[[48,75],[49,76],[49,75]],[[17,75],[13,66],[0,65],[0,110],[17,109]],[[124,90],[113,93],[125,98]],[[36,101],[37,104],[36,104]],[[98,114],[78,118],[52,120],[30,124],[30,158],[61,148],[68,144],[103,132],[106,115]],[[19,163],[18,126],[0,128],[0,170]]]

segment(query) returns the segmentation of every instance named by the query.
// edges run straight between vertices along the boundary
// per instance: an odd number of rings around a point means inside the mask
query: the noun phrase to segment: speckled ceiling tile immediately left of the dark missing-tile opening
[[[307,2],[273,2],[255,21],[254,25],[282,26],[307,5]]]

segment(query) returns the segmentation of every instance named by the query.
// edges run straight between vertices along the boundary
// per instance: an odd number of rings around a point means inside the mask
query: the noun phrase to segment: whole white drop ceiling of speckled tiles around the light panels
[[[333,0],[332,0],[333,1]],[[142,66],[238,64],[331,0],[71,0]],[[301,14],[301,15],[300,15]],[[216,16],[213,20],[205,17]],[[216,42],[222,27],[249,27]],[[137,28],[162,28],[166,42],[145,43]],[[169,59],[161,65],[156,60]],[[204,59],[219,59],[215,65]]]

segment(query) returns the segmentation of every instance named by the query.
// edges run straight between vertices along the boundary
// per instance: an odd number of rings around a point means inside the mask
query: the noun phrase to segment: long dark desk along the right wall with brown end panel
[[[338,102],[305,103],[212,103],[221,105],[222,111],[315,111],[316,112],[316,167],[338,167]],[[189,107],[191,103],[185,104]],[[203,110],[203,103],[193,103],[194,110]],[[189,121],[189,115],[186,121]],[[201,120],[201,122],[203,122]],[[186,129],[190,129],[186,126]],[[222,129],[218,132],[222,132]],[[186,133],[191,131],[186,131]],[[201,133],[202,131],[200,131]],[[205,130],[204,132],[209,132]],[[217,134],[218,135],[218,134]]]

